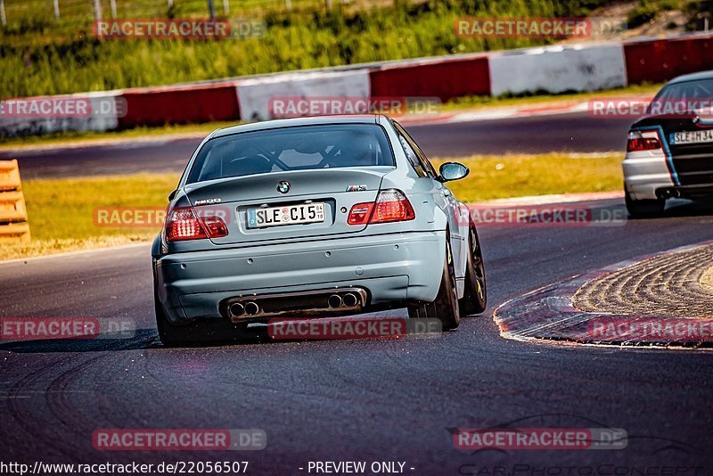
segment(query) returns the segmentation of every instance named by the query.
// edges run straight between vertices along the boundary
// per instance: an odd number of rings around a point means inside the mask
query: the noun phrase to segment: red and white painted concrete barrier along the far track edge
[[[554,45],[512,52],[379,62],[354,69],[280,73],[219,82],[47,96],[86,98],[82,117],[22,117],[2,111],[0,136],[273,119],[276,98],[438,97],[594,91],[661,82],[713,69],[713,36],[687,35],[597,45]],[[43,98],[29,98],[41,100]],[[46,98],[45,98],[46,99]]]

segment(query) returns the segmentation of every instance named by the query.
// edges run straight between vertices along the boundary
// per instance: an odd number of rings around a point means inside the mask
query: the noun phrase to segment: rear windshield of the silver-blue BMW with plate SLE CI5
[[[381,126],[329,124],[225,135],[203,145],[187,183],[315,168],[394,166]]]

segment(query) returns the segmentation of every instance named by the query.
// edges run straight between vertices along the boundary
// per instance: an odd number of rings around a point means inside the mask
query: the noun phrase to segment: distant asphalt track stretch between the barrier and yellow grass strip
[[[504,152],[623,151],[631,119],[595,119],[586,112],[410,125],[408,130],[431,157],[462,157]],[[0,152],[19,159],[24,178],[109,175],[142,171],[183,171],[199,138],[133,142],[51,151]]]

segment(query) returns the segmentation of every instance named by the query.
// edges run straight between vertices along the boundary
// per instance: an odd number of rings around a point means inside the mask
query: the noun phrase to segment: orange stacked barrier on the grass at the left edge
[[[17,160],[0,160],[0,242],[29,242],[27,221]]]

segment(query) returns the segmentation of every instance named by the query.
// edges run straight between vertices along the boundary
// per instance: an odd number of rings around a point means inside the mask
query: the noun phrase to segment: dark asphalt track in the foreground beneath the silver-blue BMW
[[[569,124],[530,144],[528,137],[545,127],[532,125],[504,144],[544,152],[571,135]],[[494,152],[495,139],[479,143],[487,136],[479,129],[497,126],[410,130],[430,154],[446,155],[462,144]],[[444,127],[470,132],[452,144],[447,135],[437,140]],[[581,130],[584,143],[592,134]],[[598,150],[596,144],[620,149],[626,130],[595,130],[583,150]],[[453,149],[438,150],[440,140]],[[131,152],[135,161],[129,163],[145,161],[143,152]],[[128,155],[114,157],[117,163],[107,168],[119,167]],[[52,160],[37,160],[45,163],[35,168],[38,175],[60,173]],[[25,163],[23,173],[32,168],[31,160]],[[589,205],[623,209],[616,200]],[[711,474],[709,350],[509,341],[499,335],[492,312],[505,300],[589,269],[709,240],[712,226],[711,209],[679,201],[666,217],[624,226],[482,227],[486,313],[466,318],[457,332],[401,340],[275,342],[257,331],[253,341],[239,345],[164,349],[154,331],[147,245],[5,263],[0,316],[124,319],[138,331],[123,340],[0,344],[0,453],[30,464],[40,457],[44,463],[249,461],[248,474],[308,474],[310,461],[354,460],[405,462],[404,472],[419,475],[633,476],[666,474],[663,467],[676,469],[668,474]],[[396,315],[405,310],[390,316]],[[627,447],[463,451],[448,431],[514,421],[520,428],[624,429]],[[107,428],[262,429],[267,447],[94,450],[92,432]]]

